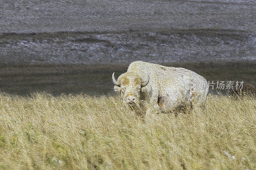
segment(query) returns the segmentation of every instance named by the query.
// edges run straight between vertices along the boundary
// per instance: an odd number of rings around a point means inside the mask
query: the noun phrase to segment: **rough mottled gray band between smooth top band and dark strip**
[[[256,60],[256,34],[165,30],[1,34],[0,64],[119,64]]]

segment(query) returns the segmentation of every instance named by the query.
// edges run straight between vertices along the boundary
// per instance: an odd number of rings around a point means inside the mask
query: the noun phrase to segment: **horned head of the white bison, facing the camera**
[[[149,76],[146,81],[143,81],[140,76],[133,72],[123,73],[115,79],[115,72],[112,75],[113,83],[115,84],[114,90],[120,93],[124,104],[131,106],[139,106],[140,95],[149,82]]]

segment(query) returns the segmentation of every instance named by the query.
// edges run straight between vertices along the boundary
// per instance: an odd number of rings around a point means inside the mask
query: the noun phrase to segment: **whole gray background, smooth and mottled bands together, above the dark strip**
[[[5,0],[0,64],[252,61],[255,16],[251,0]]]

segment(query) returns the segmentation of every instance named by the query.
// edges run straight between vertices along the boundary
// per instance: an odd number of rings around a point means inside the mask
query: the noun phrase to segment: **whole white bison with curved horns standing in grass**
[[[184,102],[203,105],[209,88],[194,71],[142,61],[131,63],[117,80],[114,74],[114,90],[139,114],[172,110]]]

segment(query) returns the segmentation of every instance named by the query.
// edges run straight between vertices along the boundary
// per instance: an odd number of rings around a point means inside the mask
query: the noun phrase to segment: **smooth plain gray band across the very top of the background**
[[[0,33],[158,28],[254,30],[253,0],[3,0]]]

